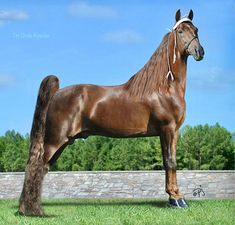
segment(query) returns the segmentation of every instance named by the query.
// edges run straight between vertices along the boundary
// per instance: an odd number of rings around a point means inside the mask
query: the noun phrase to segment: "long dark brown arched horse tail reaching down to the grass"
[[[43,161],[45,123],[50,100],[58,89],[59,80],[56,76],[44,78],[39,88],[30,134],[29,159],[19,204],[19,212],[24,215],[43,215],[41,189],[47,172],[47,165]]]

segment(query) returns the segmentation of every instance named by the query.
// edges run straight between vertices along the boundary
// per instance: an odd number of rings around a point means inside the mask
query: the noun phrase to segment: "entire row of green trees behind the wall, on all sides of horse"
[[[177,168],[234,170],[235,135],[219,124],[185,126],[180,130]],[[29,135],[7,131],[0,137],[0,171],[24,171]],[[158,137],[115,139],[92,136],[66,147],[51,166],[55,171],[162,170]]]

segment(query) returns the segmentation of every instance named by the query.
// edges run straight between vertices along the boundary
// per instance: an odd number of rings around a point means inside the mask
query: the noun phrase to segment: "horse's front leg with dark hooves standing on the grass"
[[[178,132],[171,128],[166,128],[160,136],[163,165],[166,171],[166,192],[169,194],[169,206],[185,208],[183,195],[181,194],[176,177],[176,145]]]

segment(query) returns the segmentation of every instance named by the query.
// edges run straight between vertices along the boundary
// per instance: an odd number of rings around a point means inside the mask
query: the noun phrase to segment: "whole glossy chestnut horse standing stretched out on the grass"
[[[145,66],[119,86],[74,85],[59,89],[55,76],[40,86],[30,135],[19,211],[42,215],[41,187],[48,165],[76,138],[160,136],[166,170],[168,204],[185,208],[187,203],[176,179],[178,130],[185,118],[187,58],[203,58],[193,12],[181,18],[167,33]]]

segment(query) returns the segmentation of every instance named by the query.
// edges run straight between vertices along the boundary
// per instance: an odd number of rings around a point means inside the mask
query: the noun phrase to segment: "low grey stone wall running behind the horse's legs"
[[[0,173],[0,198],[19,198],[24,173]],[[234,171],[178,171],[187,199],[235,198]],[[164,171],[50,172],[45,198],[167,198]]]

